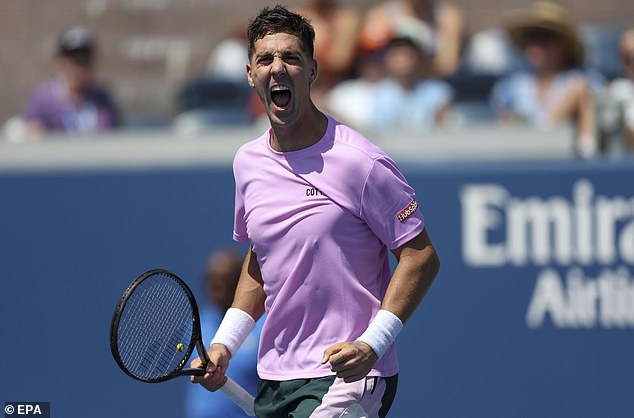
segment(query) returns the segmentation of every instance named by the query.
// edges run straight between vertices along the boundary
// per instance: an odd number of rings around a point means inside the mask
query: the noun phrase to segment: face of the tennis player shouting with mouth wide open
[[[317,62],[301,48],[295,35],[276,33],[254,43],[247,79],[255,88],[271,124],[297,123],[308,112],[310,86]]]

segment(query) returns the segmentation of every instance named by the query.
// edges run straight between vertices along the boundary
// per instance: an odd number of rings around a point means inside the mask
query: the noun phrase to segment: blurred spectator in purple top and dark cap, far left
[[[110,94],[94,80],[95,53],[88,29],[75,26],[61,36],[55,76],[36,90],[23,115],[28,138],[51,132],[90,135],[118,126]]]

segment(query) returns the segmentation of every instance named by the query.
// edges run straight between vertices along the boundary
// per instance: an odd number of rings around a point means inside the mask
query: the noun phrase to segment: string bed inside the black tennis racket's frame
[[[140,283],[119,321],[117,345],[126,368],[144,379],[180,368],[190,352],[192,318],[189,298],[169,276],[155,275]]]

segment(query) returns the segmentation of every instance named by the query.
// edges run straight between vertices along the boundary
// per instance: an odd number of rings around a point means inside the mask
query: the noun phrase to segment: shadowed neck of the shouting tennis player
[[[312,106],[306,116],[292,124],[271,123],[271,148],[278,152],[298,151],[316,144],[326,133],[328,119]]]

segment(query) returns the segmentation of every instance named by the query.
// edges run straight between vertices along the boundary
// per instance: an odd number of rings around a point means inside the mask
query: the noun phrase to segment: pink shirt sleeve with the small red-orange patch
[[[387,157],[374,160],[368,173],[361,195],[361,218],[390,250],[416,237],[425,227],[414,189]]]

